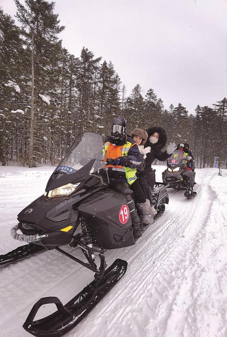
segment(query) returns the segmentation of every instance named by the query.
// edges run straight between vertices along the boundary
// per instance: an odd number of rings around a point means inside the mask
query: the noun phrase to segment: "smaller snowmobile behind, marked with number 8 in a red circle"
[[[162,172],[162,181],[176,190],[186,189],[184,196],[191,199],[197,193],[193,191],[194,173],[185,166],[187,162],[184,152],[175,150],[167,159],[167,169]]]

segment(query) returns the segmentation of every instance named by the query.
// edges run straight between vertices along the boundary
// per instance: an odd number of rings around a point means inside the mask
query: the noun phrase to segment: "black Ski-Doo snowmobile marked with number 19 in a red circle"
[[[0,267],[4,267],[41,251],[56,249],[95,273],[94,280],[67,304],[63,305],[57,297],[41,298],[35,303],[23,325],[34,336],[63,336],[126,272],[127,262],[122,259],[116,259],[106,269],[104,250],[128,247],[135,240],[124,195],[108,187],[104,153],[101,135],[91,132],[79,135],[48,180],[44,195],[18,214],[19,223],[11,229],[14,239],[29,244],[0,255]],[[168,204],[168,194],[165,186],[159,184],[152,193],[157,218],[164,212],[164,203]],[[17,233],[19,229],[22,234]],[[64,245],[81,248],[87,261],[59,248]],[[54,303],[57,310],[34,321],[38,309],[49,303]]]

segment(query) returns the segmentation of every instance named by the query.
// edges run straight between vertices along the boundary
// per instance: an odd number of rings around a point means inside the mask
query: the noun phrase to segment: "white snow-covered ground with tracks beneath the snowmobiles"
[[[163,169],[156,167],[158,181]],[[0,167],[0,254],[21,244],[10,228],[44,193],[52,171]],[[227,170],[217,174],[197,169],[195,198],[169,190],[165,213],[135,246],[106,252],[108,266],[123,258],[127,272],[67,337],[227,336]],[[58,296],[64,304],[92,279],[91,271],[55,250],[1,269],[0,336],[31,336],[22,325],[39,298]]]

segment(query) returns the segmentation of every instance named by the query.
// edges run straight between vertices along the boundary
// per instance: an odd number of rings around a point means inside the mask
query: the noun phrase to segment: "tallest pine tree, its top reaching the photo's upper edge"
[[[59,26],[58,14],[54,14],[54,2],[44,0],[25,0],[25,6],[15,0],[19,22],[24,29],[23,35],[27,52],[31,55],[31,123],[29,136],[29,167],[41,162],[43,153],[40,145],[42,136],[42,110],[50,105],[53,88],[53,68],[57,67],[61,41],[57,34],[64,26]],[[53,91],[53,89],[52,89]],[[48,97],[47,97],[48,95]],[[38,110],[40,109],[40,110]],[[40,112],[39,112],[40,111]]]

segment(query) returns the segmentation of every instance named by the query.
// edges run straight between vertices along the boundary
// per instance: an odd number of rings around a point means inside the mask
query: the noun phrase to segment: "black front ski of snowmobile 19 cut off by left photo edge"
[[[29,243],[28,245],[20,246],[13,249],[7,254],[0,255],[0,268],[6,267],[11,263],[21,261],[26,257],[32,256],[34,254],[40,253],[46,250],[45,247]]]

